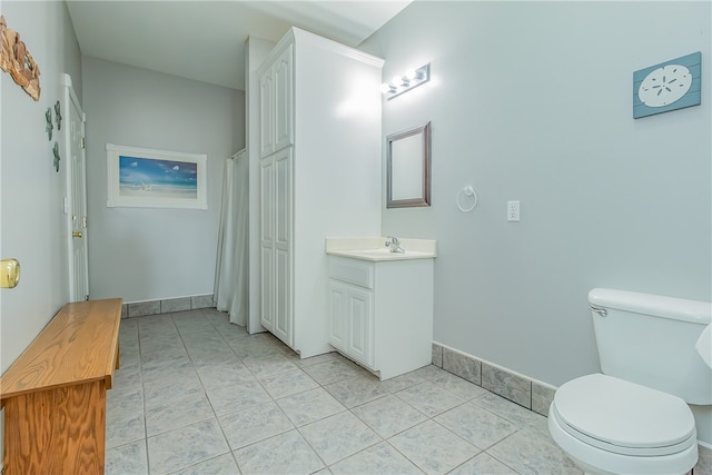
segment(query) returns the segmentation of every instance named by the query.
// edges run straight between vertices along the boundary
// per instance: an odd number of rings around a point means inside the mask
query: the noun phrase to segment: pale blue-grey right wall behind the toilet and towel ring
[[[710,301],[710,2],[415,2],[362,44],[385,79],[432,62],[384,102],[383,135],[433,121],[433,206],[385,210],[383,232],[437,239],[435,340],[558,386],[599,370],[591,288]],[[695,51],[702,106],[634,120],[633,71]]]

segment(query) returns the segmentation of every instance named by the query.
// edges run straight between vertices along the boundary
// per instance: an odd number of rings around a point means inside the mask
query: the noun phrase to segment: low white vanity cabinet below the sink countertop
[[[433,359],[433,259],[329,256],[329,343],[380,379]]]

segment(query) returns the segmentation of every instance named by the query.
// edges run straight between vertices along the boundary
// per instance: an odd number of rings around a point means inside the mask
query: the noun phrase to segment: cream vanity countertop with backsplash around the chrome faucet
[[[390,253],[385,243],[387,237],[375,238],[326,238],[326,254],[350,257],[353,259],[382,261],[434,259],[436,241],[434,239],[400,239],[405,253]]]

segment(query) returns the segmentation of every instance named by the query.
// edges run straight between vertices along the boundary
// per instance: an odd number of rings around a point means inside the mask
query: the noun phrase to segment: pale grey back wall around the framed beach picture
[[[245,146],[243,91],[83,57],[89,294],[212,294],[225,159]],[[107,208],[106,144],[207,154],[208,210]]]

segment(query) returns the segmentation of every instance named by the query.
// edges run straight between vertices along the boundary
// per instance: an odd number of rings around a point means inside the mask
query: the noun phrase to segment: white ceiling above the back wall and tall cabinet
[[[290,27],[356,47],[412,0],[67,1],[81,53],[245,89],[245,40]]]

